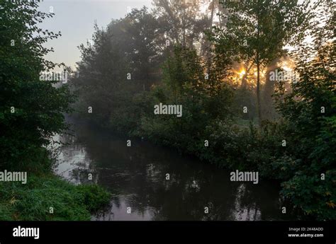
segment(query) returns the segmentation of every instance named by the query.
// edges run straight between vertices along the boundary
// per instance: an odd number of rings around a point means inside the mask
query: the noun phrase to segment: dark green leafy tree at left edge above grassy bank
[[[40,80],[40,72],[56,65],[43,58],[52,51],[43,43],[60,33],[36,26],[53,15],[37,11],[37,7],[36,1],[1,1],[1,168],[38,167],[32,157],[38,157],[50,137],[67,127],[63,113],[69,112],[73,100],[69,89],[53,86],[57,81]]]

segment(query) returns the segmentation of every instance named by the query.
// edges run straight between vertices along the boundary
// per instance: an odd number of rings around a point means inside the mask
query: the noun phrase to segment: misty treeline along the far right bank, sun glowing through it
[[[282,182],[299,219],[336,219],[335,6],[152,6],[96,26],[91,45],[80,45],[71,81],[78,115],[220,167],[259,171]],[[183,115],[155,115],[159,103],[182,105]]]

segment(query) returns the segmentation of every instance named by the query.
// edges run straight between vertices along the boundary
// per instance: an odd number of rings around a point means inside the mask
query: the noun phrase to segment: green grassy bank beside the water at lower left
[[[0,182],[0,220],[90,220],[110,197],[99,185],[73,185],[52,174],[28,174],[26,185]]]

